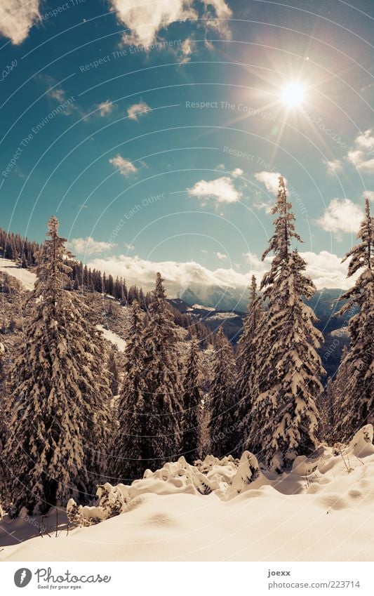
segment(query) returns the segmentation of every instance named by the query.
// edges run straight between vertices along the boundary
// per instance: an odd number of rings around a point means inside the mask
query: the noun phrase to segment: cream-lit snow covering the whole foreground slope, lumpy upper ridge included
[[[131,486],[105,484],[86,517],[123,513],[48,541],[24,539],[22,522],[1,522],[6,561],[372,561],[374,557],[373,427],[348,446],[321,445],[293,470],[265,474],[251,453],[185,458],[148,470]],[[349,471],[351,470],[351,471]],[[251,482],[252,481],[252,482]],[[205,489],[204,487],[208,487]],[[109,510],[109,509],[108,509]],[[6,524],[6,525],[4,525]],[[51,520],[53,525],[53,519]],[[30,527],[30,522],[27,524]],[[4,538],[13,533],[13,545]],[[37,534],[37,532],[35,532]]]

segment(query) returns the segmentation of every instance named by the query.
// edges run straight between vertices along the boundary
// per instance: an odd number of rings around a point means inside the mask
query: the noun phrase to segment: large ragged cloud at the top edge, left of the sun
[[[161,29],[166,29],[173,22],[197,20],[199,15],[206,29],[214,29],[227,39],[230,37],[227,19],[232,11],[225,0],[157,0],[138,3],[138,6],[133,0],[108,2],[112,11],[116,11],[117,20],[130,29],[123,35],[125,44],[148,47],[156,41]],[[199,7],[203,8],[200,14]],[[190,48],[193,49],[192,46]],[[185,56],[188,58],[188,55],[188,46],[185,46]]]

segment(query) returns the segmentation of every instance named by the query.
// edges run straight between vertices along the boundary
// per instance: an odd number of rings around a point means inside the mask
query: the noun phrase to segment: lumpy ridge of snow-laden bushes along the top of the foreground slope
[[[367,465],[363,459],[367,460]],[[194,465],[180,457],[154,472],[145,470],[143,478],[134,480],[131,486],[112,486],[109,482],[98,486],[95,507],[79,507],[70,499],[67,514],[74,522],[91,525],[131,510],[134,501],[149,494],[200,497],[214,494],[215,498],[227,502],[251,491],[255,494],[249,498],[266,494],[315,496],[316,505],[329,512],[349,508],[362,499],[368,482],[367,472],[369,469],[373,472],[373,468],[373,426],[366,425],[347,446],[321,445],[313,458],[298,456],[292,469],[281,475],[261,470],[257,458],[249,451],[244,451],[240,460],[232,456],[222,459],[206,456]],[[368,497],[374,499],[374,491],[373,496],[370,493]]]

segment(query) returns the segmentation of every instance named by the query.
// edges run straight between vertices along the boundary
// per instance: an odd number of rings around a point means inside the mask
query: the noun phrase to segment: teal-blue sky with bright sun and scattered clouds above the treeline
[[[1,0],[0,225],[173,293],[269,267],[278,176],[316,286],[374,200],[371,0]]]

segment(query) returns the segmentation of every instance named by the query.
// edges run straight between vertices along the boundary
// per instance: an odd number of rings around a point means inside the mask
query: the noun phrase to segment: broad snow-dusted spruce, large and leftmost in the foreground
[[[11,379],[6,460],[13,516],[23,507],[31,515],[66,505],[105,468],[110,390],[101,335],[76,294],[64,289],[69,267],[55,217],[47,236]]]

